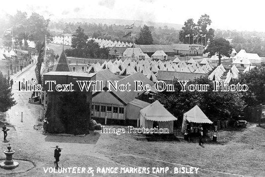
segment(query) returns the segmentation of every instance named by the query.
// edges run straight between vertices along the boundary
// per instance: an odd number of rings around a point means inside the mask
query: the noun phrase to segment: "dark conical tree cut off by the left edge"
[[[0,112],[6,112],[16,104],[16,101],[12,97],[14,93],[11,92],[8,82],[0,72]]]

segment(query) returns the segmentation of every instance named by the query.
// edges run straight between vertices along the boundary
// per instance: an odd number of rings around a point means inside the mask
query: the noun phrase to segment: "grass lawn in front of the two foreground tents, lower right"
[[[204,148],[198,146],[198,142],[184,140],[148,142],[135,134],[108,134],[101,138],[105,143],[99,141],[99,152],[124,165],[173,167],[182,164],[231,174],[265,176],[265,129],[261,127],[222,130],[218,133],[218,142],[206,143]],[[213,175],[206,171],[200,174]]]

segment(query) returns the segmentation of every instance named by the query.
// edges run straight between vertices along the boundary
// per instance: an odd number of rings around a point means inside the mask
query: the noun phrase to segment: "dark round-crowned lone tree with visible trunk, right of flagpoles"
[[[219,65],[221,65],[222,55],[230,57],[230,54],[232,52],[232,46],[230,45],[230,42],[225,40],[224,38],[216,38],[209,43],[204,53],[207,52],[209,52],[210,56],[213,56],[218,53]]]

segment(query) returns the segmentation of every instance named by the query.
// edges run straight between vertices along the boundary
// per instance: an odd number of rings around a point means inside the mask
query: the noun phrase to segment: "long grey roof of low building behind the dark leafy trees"
[[[158,71],[157,80],[159,81],[173,81],[174,78],[180,81],[189,81],[195,78],[207,76],[207,74],[202,73],[186,73],[186,72],[176,72],[176,71]]]

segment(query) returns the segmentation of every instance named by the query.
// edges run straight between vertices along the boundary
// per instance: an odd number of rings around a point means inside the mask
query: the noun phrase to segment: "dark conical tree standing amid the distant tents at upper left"
[[[72,35],[72,46],[73,48],[84,49],[86,47],[88,36],[85,34],[84,29],[80,26],[76,32]]]

